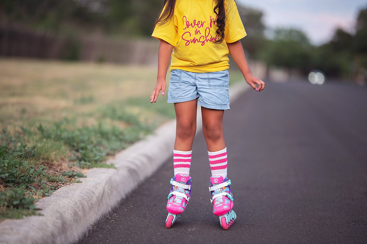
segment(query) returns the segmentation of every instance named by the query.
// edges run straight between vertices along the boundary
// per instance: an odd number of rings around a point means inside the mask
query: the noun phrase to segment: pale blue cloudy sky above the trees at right
[[[359,9],[367,7],[367,0],[236,0],[236,2],[262,10],[267,27],[293,27],[303,30],[313,44],[330,40],[337,27],[353,32]]]

